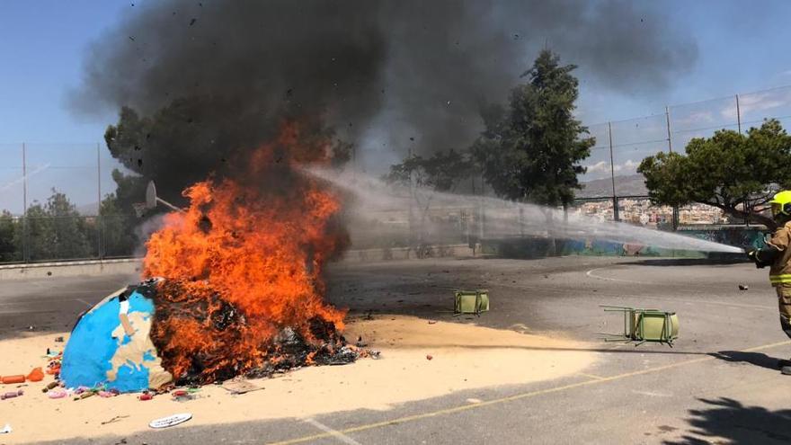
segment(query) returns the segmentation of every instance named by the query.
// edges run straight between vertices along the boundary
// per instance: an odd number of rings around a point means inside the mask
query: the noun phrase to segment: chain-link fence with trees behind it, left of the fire
[[[0,263],[125,257],[134,215],[113,205],[100,144],[0,144]]]

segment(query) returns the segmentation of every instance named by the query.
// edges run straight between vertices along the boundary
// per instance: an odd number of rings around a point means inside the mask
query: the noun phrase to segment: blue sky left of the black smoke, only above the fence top
[[[4,0],[0,10],[0,143],[96,142],[107,118],[86,120],[65,104],[91,41],[111,29],[129,2]]]

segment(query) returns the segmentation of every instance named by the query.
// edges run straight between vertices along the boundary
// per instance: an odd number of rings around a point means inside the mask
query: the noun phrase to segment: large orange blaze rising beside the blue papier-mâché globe
[[[302,139],[287,125],[244,174],[193,184],[189,209],[148,240],[143,275],[165,279],[152,340],[175,378],[209,382],[276,362],[284,330],[316,343],[342,329],[322,274],[348,240],[339,197],[298,169],[328,162],[330,146]]]

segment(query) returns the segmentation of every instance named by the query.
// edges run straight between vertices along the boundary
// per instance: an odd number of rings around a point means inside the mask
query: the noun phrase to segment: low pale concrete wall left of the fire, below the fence
[[[29,280],[31,278],[76,277],[80,275],[137,275],[139,272],[139,258],[4,264],[0,265],[0,280]]]

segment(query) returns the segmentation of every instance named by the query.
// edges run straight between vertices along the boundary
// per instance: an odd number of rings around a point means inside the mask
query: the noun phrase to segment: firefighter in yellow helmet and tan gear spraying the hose
[[[769,281],[778,292],[780,326],[791,337],[791,191],[780,191],[769,201],[778,228],[766,247],[747,253],[756,267],[769,266]],[[780,360],[780,370],[791,375],[791,360]]]

